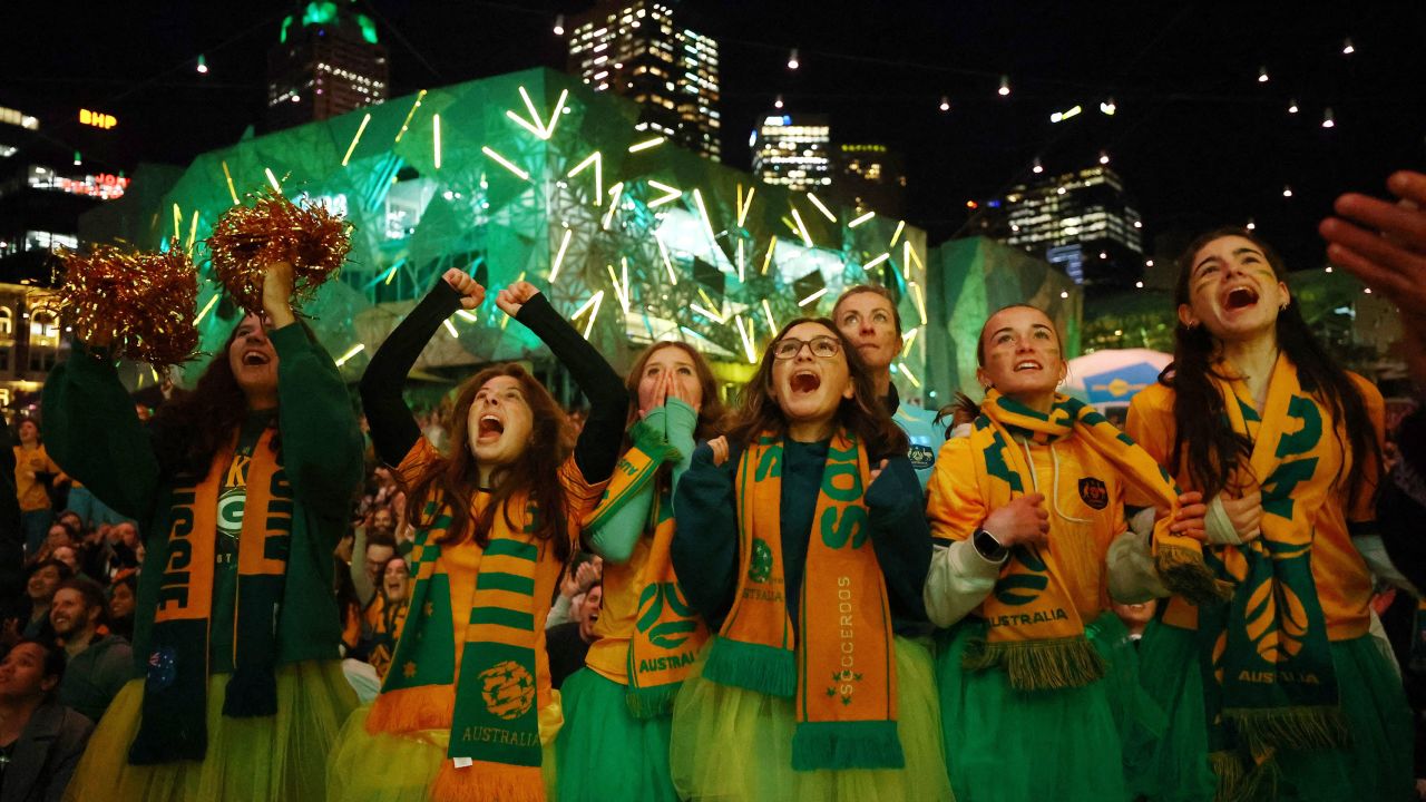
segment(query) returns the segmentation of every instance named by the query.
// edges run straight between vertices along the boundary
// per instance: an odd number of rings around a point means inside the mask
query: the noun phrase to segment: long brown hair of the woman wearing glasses
[[[841,335],[837,325],[824,317],[800,317],[783,325],[777,337],[773,337],[763,348],[763,360],[757,364],[757,372],[743,385],[739,397],[737,411],[733,414],[727,438],[743,445],[752,445],[757,435],[770,431],[777,435],[787,432],[787,418],[783,417],[781,407],[773,397],[773,348],[787,335],[787,331],[803,323],[816,323],[831,333],[841,344],[841,354],[847,360],[847,374],[851,380],[851,398],[843,398],[837,405],[837,422],[847,431],[856,432],[857,440],[867,450],[867,457],[873,461],[884,457],[904,455],[910,441],[901,427],[891,421],[886,407],[877,397],[871,375],[861,362],[857,348]]]

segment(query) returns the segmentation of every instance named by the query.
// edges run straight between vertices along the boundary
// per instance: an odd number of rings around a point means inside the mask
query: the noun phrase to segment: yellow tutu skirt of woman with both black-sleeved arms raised
[[[539,712],[540,773],[545,776],[546,799],[555,799],[555,736],[565,724],[559,691],[552,694],[555,701]],[[405,735],[372,735],[366,732],[368,714],[371,705],[358,708],[337,738],[327,766],[327,802],[429,801],[441,762],[446,759],[451,732],[424,729]]]

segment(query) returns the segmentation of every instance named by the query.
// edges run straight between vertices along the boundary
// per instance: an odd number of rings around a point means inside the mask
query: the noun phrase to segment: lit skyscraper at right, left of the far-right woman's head
[[[1142,227],[1124,181],[1102,166],[1011,187],[984,204],[975,224],[1098,290],[1128,290],[1144,278]]]

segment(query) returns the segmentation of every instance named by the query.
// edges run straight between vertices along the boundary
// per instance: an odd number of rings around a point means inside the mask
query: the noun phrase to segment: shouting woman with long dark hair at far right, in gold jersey
[[[1273,251],[1241,228],[1179,263],[1174,364],[1128,431],[1211,499],[1204,557],[1229,591],[1172,598],[1144,634],[1169,712],[1149,799],[1407,799],[1412,728],[1368,634],[1382,395],[1313,340]]]

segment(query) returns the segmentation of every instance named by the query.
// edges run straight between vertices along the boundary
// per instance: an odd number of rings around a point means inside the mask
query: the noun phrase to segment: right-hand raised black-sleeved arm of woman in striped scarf
[[[629,391],[623,380],[529,281],[501,290],[495,303],[549,347],[589,398],[589,418],[575,444],[575,464],[590,484],[607,479],[619,461],[629,415]]]

